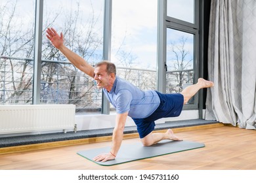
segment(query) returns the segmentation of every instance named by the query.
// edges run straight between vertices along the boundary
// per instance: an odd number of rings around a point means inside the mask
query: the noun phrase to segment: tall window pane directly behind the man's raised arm
[[[45,36],[47,27],[64,34],[70,50],[95,65],[102,60],[104,1],[44,1],[41,103],[75,104],[77,112],[100,112],[102,92]]]

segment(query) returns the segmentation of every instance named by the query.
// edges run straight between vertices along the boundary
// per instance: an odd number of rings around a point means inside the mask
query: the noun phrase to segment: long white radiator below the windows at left
[[[75,105],[0,105],[0,134],[74,127]]]

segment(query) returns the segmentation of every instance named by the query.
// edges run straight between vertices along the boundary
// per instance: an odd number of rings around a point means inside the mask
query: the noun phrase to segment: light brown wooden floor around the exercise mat
[[[0,155],[0,169],[25,170],[237,170],[256,169],[256,131],[238,127],[213,127],[176,133],[187,141],[198,141],[205,148],[188,150],[156,158],[142,159],[120,165],[104,167],[76,154],[79,150],[110,146],[111,142],[65,146],[29,152]],[[139,139],[125,139],[123,143]],[[118,157],[117,157],[118,158]]]

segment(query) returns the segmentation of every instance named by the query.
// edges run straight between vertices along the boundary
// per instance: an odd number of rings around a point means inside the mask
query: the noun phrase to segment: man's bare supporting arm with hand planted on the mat
[[[125,128],[125,122],[127,119],[128,112],[123,114],[116,114],[116,127],[114,127],[113,137],[112,137],[112,148],[110,152],[106,154],[100,154],[93,158],[94,161],[108,161],[111,159],[115,159],[117,156],[117,152],[121,146],[121,142],[123,141],[123,129]]]

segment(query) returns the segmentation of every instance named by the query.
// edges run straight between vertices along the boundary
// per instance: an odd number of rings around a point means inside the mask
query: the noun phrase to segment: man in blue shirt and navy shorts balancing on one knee
[[[109,153],[96,156],[95,161],[108,161],[116,158],[123,139],[127,116],[135,121],[144,146],[151,146],[163,139],[181,141],[171,129],[165,133],[152,133],[155,126],[154,121],[160,118],[179,116],[183,105],[198,90],[213,86],[213,82],[199,78],[196,84],[188,86],[181,93],[143,92],[133,84],[116,76],[116,67],[113,63],[102,61],[95,67],[89,65],[85,59],[64,46],[62,33],[58,35],[53,28],[48,28],[47,38],[77,69],[96,80],[97,88],[102,88],[110,103],[116,108],[116,126],[113,131],[111,150]]]

